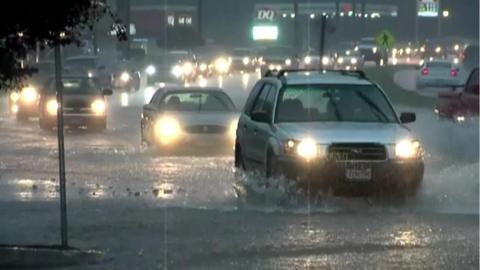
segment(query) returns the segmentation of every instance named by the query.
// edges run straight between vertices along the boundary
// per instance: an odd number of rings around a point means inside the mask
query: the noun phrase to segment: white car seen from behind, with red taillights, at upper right
[[[417,73],[417,89],[458,85],[459,68],[449,60],[426,61]]]

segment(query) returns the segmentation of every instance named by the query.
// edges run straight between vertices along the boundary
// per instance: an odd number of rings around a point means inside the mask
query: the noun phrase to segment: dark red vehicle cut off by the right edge
[[[475,68],[461,90],[439,93],[435,107],[437,115],[459,122],[478,116],[478,76],[478,68]]]

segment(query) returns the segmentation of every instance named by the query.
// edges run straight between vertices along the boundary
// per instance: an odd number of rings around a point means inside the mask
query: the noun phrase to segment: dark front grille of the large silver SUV
[[[386,160],[384,145],[373,143],[332,144],[328,148],[328,158],[335,161]]]

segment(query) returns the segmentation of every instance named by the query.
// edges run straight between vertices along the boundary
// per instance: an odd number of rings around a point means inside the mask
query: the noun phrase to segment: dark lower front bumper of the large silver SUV
[[[415,194],[423,180],[424,163],[416,160],[334,161],[307,163],[287,158],[279,160],[280,171],[298,179],[301,186],[310,184],[315,190],[333,191],[335,195]],[[347,170],[370,168],[370,179],[352,180]]]

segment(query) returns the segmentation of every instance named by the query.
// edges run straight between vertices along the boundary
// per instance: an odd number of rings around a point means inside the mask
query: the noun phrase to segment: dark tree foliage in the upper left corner
[[[35,70],[21,60],[40,49],[79,44],[81,36],[109,15],[121,25],[104,0],[13,0],[0,9],[0,88],[9,89]],[[120,39],[124,31],[117,31]]]

